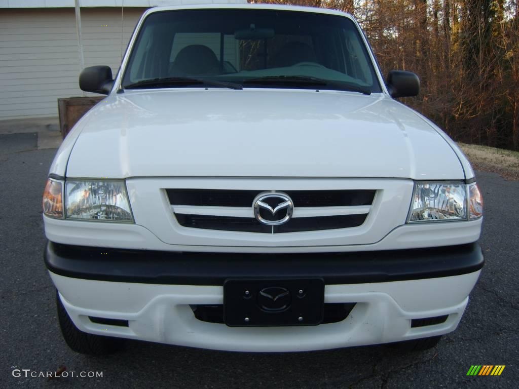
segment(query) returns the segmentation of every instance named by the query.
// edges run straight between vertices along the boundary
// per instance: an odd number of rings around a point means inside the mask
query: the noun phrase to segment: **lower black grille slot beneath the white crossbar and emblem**
[[[295,217],[286,224],[274,226],[274,230],[272,230],[271,226],[266,226],[256,219],[248,217],[188,214],[175,214],[175,216],[176,220],[183,227],[220,231],[282,233],[359,227],[364,223],[367,214]]]

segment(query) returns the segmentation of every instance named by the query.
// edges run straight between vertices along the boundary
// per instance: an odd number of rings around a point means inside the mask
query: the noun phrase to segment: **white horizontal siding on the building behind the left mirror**
[[[124,10],[122,49],[143,8]],[[85,66],[121,61],[120,8],[81,8]],[[0,9],[0,120],[58,116],[58,98],[81,96],[73,8]],[[93,94],[89,94],[93,95]]]

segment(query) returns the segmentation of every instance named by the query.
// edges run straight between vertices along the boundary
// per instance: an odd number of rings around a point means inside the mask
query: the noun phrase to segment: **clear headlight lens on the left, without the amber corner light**
[[[66,180],[65,207],[66,219],[133,223],[122,180]]]

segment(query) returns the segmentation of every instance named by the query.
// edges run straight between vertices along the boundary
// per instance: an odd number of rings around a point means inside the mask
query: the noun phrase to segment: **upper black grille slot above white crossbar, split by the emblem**
[[[170,204],[252,206],[262,190],[166,189]],[[371,205],[376,190],[286,190],[295,207]]]

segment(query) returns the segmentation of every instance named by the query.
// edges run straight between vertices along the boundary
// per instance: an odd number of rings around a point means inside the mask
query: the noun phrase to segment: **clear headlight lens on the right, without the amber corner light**
[[[465,183],[415,183],[408,221],[467,220]]]

